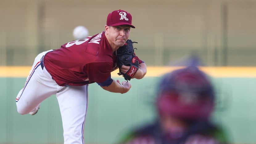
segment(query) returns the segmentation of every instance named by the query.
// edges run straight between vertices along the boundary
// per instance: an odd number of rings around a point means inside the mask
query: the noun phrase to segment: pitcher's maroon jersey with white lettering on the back
[[[138,57],[137,60],[142,63]],[[118,68],[104,31],[48,52],[43,64],[60,86],[101,83]]]

